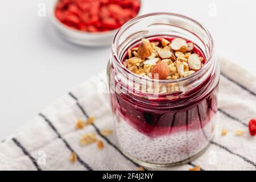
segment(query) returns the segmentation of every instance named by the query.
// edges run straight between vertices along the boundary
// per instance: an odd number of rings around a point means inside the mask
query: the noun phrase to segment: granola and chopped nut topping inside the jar
[[[123,65],[138,76],[156,80],[187,77],[203,67],[205,59],[196,46],[181,38],[142,39],[127,49]]]

